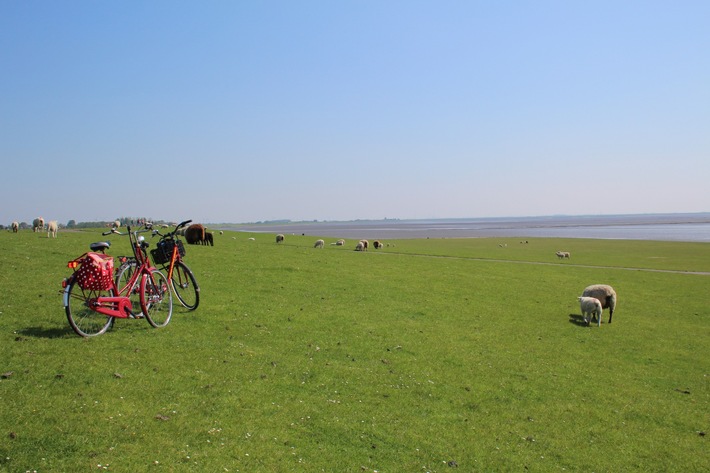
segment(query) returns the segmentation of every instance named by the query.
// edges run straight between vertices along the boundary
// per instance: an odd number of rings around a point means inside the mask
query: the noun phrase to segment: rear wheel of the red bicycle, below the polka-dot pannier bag
[[[91,308],[91,304],[99,296],[113,296],[113,289],[94,291],[82,289],[76,280],[64,289],[64,310],[67,313],[69,325],[82,337],[94,337],[106,333],[113,325],[113,317],[99,314]]]

